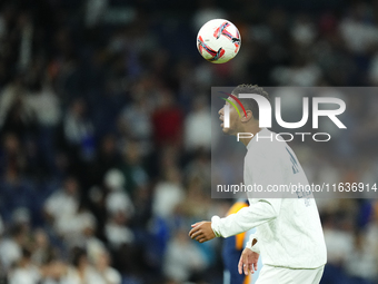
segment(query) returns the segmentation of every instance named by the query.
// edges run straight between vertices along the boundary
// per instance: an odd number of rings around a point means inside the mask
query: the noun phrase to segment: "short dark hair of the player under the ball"
[[[238,97],[239,94],[257,94],[257,95],[261,95],[262,97],[265,97],[266,99],[268,99],[270,101],[268,92],[266,92],[261,87],[259,87],[257,85],[251,85],[251,84],[239,85],[238,87],[236,87],[232,90],[232,95]],[[239,98],[239,100],[242,104],[242,106],[245,107],[245,109],[251,110],[253,118],[256,120],[259,120],[260,114],[259,114],[259,107],[258,107],[256,100],[255,99],[240,99],[240,98]]]

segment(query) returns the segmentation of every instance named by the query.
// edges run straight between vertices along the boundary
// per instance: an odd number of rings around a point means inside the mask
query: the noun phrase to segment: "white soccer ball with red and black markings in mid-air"
[[[197,35],[197,48],[211,63],[231,60],[240,49],[240,33],[228,20],[215,19],[202,26]]]

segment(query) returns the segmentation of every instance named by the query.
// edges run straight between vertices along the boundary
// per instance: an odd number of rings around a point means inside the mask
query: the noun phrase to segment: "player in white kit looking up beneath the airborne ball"
[[[258,86],[240,85],[232,91],[229,101],[239,94],[257,94],[269,99]],[[223,108],[219,110],[223,134],[236,136],[251,133],[252,137],[240,138],[247,147],[243,163],[245,185],[308,185],[292,149],[285,141],[257,141],[256,135],[275,135],[259,127],[259,108],[252,99],[240,99],[245,110],[241,116],[229,108],[229,127],[223,127]],[[226,102],[229,104],[229,102]],[[241,108],[239,109],[241,111]],[[239,261],[239,273],[253,273],[259,255],[263,255],[263,267],[258,284],[318,284],[327,262],[327,249],[319,213],[312,194],[302,198],[256,198],[249,196],[249,207],[225,218],[213,216],[211,222],[192,225],[189,236],[200,243],[215,237],[229,237],[257,228]]]

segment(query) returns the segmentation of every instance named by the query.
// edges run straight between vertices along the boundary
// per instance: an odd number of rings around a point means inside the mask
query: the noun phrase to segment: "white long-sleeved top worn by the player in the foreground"
[[[249,207],[226,218],[213,216],[216,235],[228,237],[256,227],[250,241],[258,241],[252,251],[261,253],[263,264],[289,268],[325,265],[327,249],[314,196],[311,192],[291,192],[292,186],[309,186],[291,148],[278,141],[275,133],[262,129],[247,149],[245,185],[259,185],[262,192],[249,194]],[[251,242],[247,246],[251,248]]]

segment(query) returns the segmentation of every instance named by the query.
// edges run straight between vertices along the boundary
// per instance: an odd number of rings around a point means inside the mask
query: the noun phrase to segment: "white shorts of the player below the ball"
[[[315,270],[291,270],[263,265],[256,284],[319,284],[324,270],[325,266]]]

